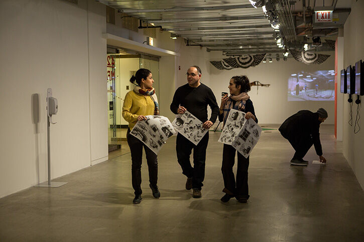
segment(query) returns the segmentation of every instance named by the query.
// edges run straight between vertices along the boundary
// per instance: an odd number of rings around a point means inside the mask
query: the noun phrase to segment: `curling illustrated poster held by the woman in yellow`
[[[146,116],[147,120],[138,121],[130,134],[146,144],[158,154],[167,139],[176,133],[168,118],[163,116]]]

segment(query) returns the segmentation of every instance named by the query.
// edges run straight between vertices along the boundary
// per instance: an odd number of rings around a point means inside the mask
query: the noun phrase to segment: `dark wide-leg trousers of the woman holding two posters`
[[[236,183],[232,167],[235,163],[234,147],[228,144],[224,144],[222,151],[222,177],[224,179],[225,188],[223,192],[235,196],[236,198],[249,198],[249,187],[248,187],[248,168],[249,168],[249,156],[245,158],[237,152],[237,172],[236,172]]]

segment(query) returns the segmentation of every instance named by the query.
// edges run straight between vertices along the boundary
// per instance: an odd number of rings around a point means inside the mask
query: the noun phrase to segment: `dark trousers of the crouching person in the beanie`
[[[288,136],[282,133],[282,136],[287,139],[292,147],[295,149],[295,154],[292,160],[301,160],[307,154],[308,150],[313,145],[312,138],[308,135],[296,134]]]

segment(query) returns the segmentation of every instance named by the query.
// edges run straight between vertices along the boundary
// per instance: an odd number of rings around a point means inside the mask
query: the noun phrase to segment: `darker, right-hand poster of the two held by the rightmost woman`
[[[248,119],[231,145],[247,158],[258,143],[261,133],[262,128],[253,119]]]

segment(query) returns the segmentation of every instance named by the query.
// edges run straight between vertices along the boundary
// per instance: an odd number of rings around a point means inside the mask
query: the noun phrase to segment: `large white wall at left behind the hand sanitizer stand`
[[[52,178],[107,159],[105,26],[105,6],[91,0],[0,2],[0,197],[47,179],[47,88],[59,104]]]

